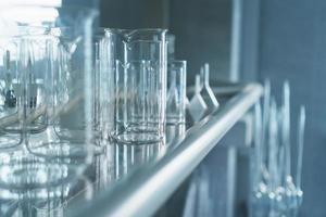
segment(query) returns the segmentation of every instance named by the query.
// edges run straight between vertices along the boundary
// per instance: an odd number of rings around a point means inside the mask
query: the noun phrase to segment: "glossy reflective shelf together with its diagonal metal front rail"
[[[0,189],[0,216],[151,216],[262,94],[256,84],[213,90],[218,110],[197,124],[167,126],[164,144],[108,144],[84,175],[42,193],[25,189],[8,200]]]

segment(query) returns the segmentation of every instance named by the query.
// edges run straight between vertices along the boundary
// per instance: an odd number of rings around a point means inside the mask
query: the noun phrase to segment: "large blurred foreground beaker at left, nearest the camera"
[[[30,20],[36,12],[46,15]],[[7,37],[17,41],[18,79],[12,82],[18,84],[13,86],[18,112],[11,128],[17,129],[22,145],[0,150],[0,188],[12,194],[75,179],[92,159],[91,26],[96,14],[64,7],[1,11],[2,18],[14,26]],[[43,27],[29,27],[32,24]],[[39,30],[30,30],[35,28]]]

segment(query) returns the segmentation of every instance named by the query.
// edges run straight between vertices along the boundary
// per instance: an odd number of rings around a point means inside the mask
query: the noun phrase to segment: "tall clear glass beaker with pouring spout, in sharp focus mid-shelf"
[[[114,44],[116,142],[164,140],[166,104],[165,29],[105,29]]]

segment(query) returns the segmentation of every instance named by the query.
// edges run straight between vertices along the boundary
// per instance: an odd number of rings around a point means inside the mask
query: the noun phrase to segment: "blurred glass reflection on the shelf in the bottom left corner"
[[[8,190],[0,189],[0,216],[63,217],[71,199],[91,199],[92,186],[87,178],[82,177],[58,187],[16,191],[12,199],[8,197]]]

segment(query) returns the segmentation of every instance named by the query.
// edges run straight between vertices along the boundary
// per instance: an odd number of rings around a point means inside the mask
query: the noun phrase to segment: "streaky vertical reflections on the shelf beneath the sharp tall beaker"
[[[95,157],[88,169],[90,177],[96,177],[96,189],[112,187],[115,181],[129,175],[141,166],[159,161],[166,152],[172,152],[185,138],[186,126],[170,125],[166,127],[166,143],[124,144],[110,143],[101,155]]]

